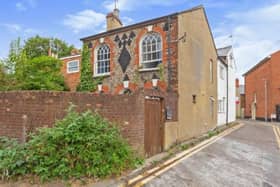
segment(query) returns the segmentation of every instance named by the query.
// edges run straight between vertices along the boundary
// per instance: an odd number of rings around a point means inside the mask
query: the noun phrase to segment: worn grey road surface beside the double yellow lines
[[[280,150],[272,124],[243,123],[240,129],[182,160],[145,186],[280,186]]]

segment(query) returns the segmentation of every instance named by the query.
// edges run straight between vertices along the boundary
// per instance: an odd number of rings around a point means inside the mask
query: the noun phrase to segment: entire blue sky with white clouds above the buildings
[[[125,25],[203,5],[217,48],[233,45],[237,77],[280,49],[280,0],[118,0]],[[76,47],[105,31],[114,0],[9,0],[0,6],[0,58],[21,37],[57,37]],[[232,36],[232,37],[230,37]]]

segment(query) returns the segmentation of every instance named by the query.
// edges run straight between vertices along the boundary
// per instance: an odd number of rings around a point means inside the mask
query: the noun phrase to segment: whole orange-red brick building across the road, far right
[[[247,118],[280,120],[280,51],[267,56],[245,77],[245,116]]]

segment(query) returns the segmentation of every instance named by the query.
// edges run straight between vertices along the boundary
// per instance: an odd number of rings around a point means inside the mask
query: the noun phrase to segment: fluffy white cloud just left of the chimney
[[[83,10],[76,14],[69,14],[63,21],[63,24],[75,33],[84,30],[99,30],[105,24],[106,15],[93,10]]]

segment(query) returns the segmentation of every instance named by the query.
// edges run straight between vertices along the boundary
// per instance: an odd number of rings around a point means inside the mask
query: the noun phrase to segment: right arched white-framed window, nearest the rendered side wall
[[[141,42],[141,65],[155,68],[162,62],[162,39],[158,33],[147,34]]]

